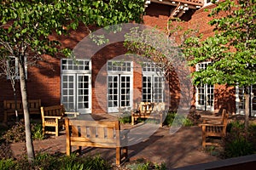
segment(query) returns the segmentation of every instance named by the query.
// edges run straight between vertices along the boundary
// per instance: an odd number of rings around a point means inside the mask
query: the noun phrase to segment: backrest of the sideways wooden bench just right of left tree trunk
[[[63,105],[41,107],[41,114],[42,116],[64,116],[65,109]]]

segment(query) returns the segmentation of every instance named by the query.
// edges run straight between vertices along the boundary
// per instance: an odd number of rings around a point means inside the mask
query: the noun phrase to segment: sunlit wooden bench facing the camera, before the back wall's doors
[[[160,121],[160,127],[163,124],[163,113],[165,111],[165,103],[140,102],[137,109],[131,112],[131,125],[138,118],[153,118]]]

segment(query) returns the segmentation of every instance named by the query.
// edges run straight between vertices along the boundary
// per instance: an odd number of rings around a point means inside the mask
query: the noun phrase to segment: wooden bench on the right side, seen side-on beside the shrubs
[[[226,135],[226,127],[228,124],[229,114],[223,110],[222,119],[220,122],[203,122],[200,124],[202,132],[202,147],[206,148],[207,145],[218,146],[218,143],[208,142],[208,138],[218,137],[223,138]],[[208,120],[209,121],[209,120]]]

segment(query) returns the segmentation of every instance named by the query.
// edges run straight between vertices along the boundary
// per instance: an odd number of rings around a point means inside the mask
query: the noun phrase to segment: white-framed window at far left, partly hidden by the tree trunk
[[[9,59],[6,61],[7,63],[7,79],[14,77],[15,80],[20,79],[20,71],[19,71],[19,61],[15,56],[9,56]],[[27,65],[26,65],[26,57],[25,57],[25,76],[27,79]]]

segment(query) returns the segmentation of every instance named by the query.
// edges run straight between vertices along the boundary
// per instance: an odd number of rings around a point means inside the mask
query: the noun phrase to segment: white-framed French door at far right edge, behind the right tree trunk
[[[250,113],[251,116],[256,116],[256,85],[250,86],[248,89],[250,94]],[[245,88],[236,87],[236,114],[245,114]]]

